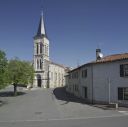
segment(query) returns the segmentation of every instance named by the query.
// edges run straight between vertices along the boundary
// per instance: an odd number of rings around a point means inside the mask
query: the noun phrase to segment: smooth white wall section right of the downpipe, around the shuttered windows
[[[128,60],[93,65],[93,99],[95,101],[118,102],[118,87],[128,87],[128,78],[120,77],[120,64]]]

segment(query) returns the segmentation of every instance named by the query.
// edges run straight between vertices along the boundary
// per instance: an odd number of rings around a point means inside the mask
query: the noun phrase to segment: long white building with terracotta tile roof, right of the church
[[[67,91],[91,103],[128,105],[128,53],[100,55],[69,72]]]

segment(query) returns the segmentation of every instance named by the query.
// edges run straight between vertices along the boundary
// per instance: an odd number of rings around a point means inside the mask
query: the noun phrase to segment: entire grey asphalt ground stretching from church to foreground
[[[128,112],[103,110],[80,102],[62,89],[0,91],[0,127],[126,127]],[[70,99],[69,99],[70,98]]]

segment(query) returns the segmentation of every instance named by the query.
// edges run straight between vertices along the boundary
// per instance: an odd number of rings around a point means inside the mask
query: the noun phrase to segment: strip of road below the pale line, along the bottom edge
[[[0,127],[127,127],[128,117],[69,119],[51,121],[21,121],[0,123]]]

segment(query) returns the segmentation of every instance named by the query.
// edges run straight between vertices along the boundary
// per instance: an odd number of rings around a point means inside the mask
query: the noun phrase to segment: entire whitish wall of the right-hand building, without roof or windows
[[[83,87],[87,87],[87,100],[90,102],[93,100],[93,102],[108,103],[110,94],[111,103],[128,104],[128,101],[118,100],[118,87],[128,87],[128,77],[120,77],[121,64],[128,64],[128,60],[81,66],[69,73],[72,75],[72,73],[78,71],[78,79],[66,77],[67,91],[84,98]],[[81,73],[85,69],[87,69],[87,78],[82,78]],[[74,84],[78,85],[78,92],[74,91]]]

